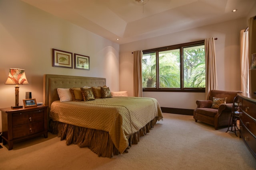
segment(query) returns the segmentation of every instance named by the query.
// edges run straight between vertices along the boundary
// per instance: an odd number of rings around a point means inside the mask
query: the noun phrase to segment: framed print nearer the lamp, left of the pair
[[[72,53],[57,49],[52,49],[52,66],[73,68]]]

